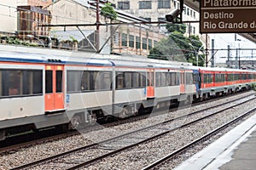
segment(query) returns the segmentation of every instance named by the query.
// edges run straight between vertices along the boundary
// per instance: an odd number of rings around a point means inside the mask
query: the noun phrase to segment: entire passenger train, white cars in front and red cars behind
[[[0,139],[250,89],[256,72],[138,56],[0,50]]]

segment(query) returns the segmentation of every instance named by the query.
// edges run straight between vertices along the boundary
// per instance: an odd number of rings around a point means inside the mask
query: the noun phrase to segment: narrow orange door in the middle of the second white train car
[[[154,69],[148,69],[147,80],[147,98],[154,98]]]

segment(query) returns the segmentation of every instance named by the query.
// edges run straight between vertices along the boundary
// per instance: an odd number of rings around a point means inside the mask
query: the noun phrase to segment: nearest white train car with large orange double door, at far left
[[[79,82],[81,77],[76,79],[73,73],[92,68],[90,77],[96,78],[99,71],[102,71],[99,77],[112,73],[112,67],[113,63],[104,59],[70,59],[57,55],[1,51],[1,138],[4,139],[8,133],[62,126],[68,122],[76,125],[76,114],[79,112],[84,113],[84,122],[93,121],[92,116],[85,113],[85,107],[111,105],[111,99],[101,99],[112,91],[102,86],[102,80],[92,82],[96,84],[85,90]],[[81,101],[84,103],[81,104]]]

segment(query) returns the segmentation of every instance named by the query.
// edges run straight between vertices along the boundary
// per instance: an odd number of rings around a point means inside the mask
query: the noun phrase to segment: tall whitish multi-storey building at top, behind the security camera
[[[179,8],[179,2],[177,0],[110,0],[109,2],[114,3],[118,9],[148,21],[165,21],[166,14],[170,13],[175,8]],[[183,20],[199,21],[199,13],[184,4]],[[188,35],[199,35],[199,23],[190,23],[187,25]]]

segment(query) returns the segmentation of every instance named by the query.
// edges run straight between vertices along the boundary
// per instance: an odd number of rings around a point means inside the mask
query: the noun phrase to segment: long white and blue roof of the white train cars
[[[96,65],[131,65],[133,67],[181,68],[191,65],[185,62],[148,59],[138,55],[111,55],[91,52],[56,50],[49,48],[26,48],[0,45],[0,60],[16,62],[61,63],[61,64],[96,64]],[[2,49],[2,50],[1,50]]]

